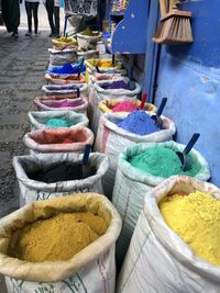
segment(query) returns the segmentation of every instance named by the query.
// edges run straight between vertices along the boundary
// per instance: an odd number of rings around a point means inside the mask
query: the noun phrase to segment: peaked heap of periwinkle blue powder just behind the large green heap
[[[143,110],[131,112],[118,126],[139,135],[147,135],[161,131],[155,122]]]

